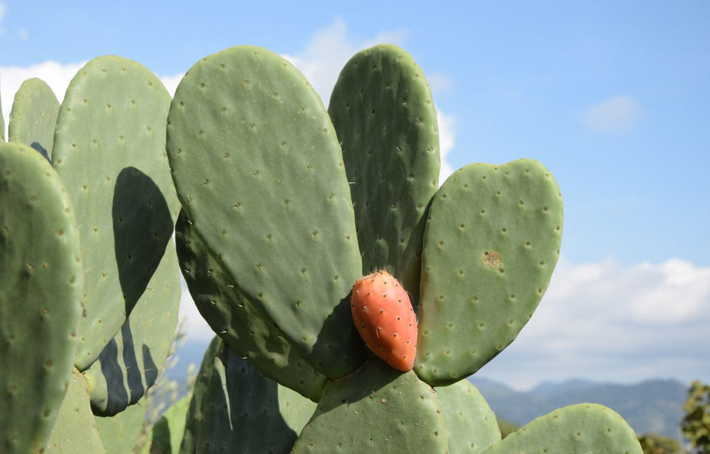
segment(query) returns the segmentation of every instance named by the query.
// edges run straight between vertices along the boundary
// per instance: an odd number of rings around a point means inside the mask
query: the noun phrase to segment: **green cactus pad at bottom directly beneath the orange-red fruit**
[[[368,360],[329,380],[293,453],[447,453],[447,439],[434,390],[412,371]]]

